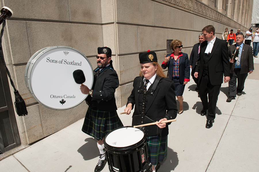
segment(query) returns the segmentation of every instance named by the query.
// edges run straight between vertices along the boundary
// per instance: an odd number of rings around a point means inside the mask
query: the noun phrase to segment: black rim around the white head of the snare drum
[[[111,146],[111,145],[109,145],[109,144],[106,143],[106,141],[105,141],[105,140],[106,140],[106,137],[107,137],[111,132],[113,132],[113,131],[115,131],[115,130],[118,130],[118,129],[120,129],[120,128],[126,128],[126,127],[134,128],[133,126],[123,126],[123,127],[118,127],[118,128],[116,128],[116,129],[110,131],[110,132],[104,137],[104,147],[108,148],[110,152],[113,152],[113,151],[111,151],[111,148],[112,148],[113,150],[117,150],[117,151],[121,151],[121,152],[125,152],[125,153],[130,153],[130,152],[132,152],[132,149],[134,149],[134,151],[135,151],[135,149],[138,148],[139,146],[141,146],[142,144],[144,144],[144,145],[146,144],[146,134],[145,134],[145,131],[144,131],[142,128],[140,128],[140,127],[136,127],[136,128],[139,129],[139,130],[141,130],[141,131],[143,132],[144,136],[143,136],[143,138],[142,138],[140,141],[138,141],[137,143],[135,143],[135,144],[133,144],[133,145],[124,146],[124,147],[114,147],[114,146]],[[129,149],[129,148],[130,148],[130,149]],[[129,150],[125,150],[125,149],[129,149]],[[121,152],[119,152],[119,153],[121,153]],[[113,153],[115,153],[115,152],[113,152]]]

